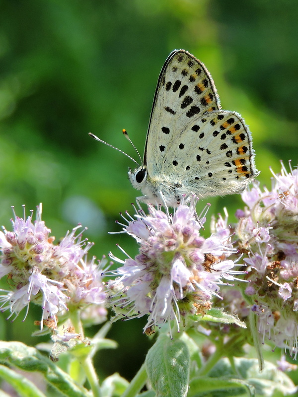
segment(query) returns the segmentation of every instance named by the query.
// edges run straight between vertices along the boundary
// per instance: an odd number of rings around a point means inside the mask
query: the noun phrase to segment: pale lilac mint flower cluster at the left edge
[[[0,278],[7,277],[10,290],[1,289],[0,309],[10,310],[16,317],[31,302],[42,307],[43,323],[51,319],[57,326],[57,316],[69,309],[78,310],[90,305],[101,305],[105,299],[100,266],[86,261],[92,243],[75,235],[75,227],[54,245],[55,237],[41,220],[42,207],[37,207],[36,220],[15,215],[13,231],[0,232]],[[103,308],[98,316],[106,317]],[[25,315],[25,317],[26,317]],[[99,319],[97,319],[99,320]]]

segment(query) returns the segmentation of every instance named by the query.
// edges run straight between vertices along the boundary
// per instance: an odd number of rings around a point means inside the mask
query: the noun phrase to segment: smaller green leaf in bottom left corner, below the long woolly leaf
[[[45,397],[24,375],[18,374],[4,365],[0,365],[0,378],[9,383],[21,397]]]

